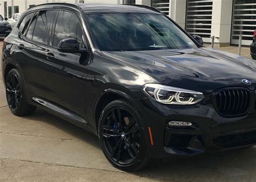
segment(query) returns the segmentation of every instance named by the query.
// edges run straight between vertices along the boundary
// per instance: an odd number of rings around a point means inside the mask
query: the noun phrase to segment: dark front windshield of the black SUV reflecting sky
[[[103,13],[86,15],[92,36],[102,51],[146,51],[197,48],[164,15]]]

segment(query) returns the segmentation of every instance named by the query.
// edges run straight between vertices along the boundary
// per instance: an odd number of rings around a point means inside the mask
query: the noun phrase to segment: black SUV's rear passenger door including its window
[[[44,96],[44,52],[50,40],[54,15],[53,10],[30,12],[18,26],[15,60],[21,66],[28,97]],[[43,26],[38,24],[42,21]],[[34,33],[36,26],[40,27],[41,32]],[[43,32],[46,32],[44,39],[38,39]]]

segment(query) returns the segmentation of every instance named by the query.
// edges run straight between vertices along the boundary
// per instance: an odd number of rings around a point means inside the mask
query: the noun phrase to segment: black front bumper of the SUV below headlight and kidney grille
[[[207,100],[194,106],[171,106],[152,99],[140,99],[137,104],[145,124],[149,155],[153,158],[192,156],[256,144],[255,102],[247,115],[233,118],[221,117]],[[170,127],[169,121],[186,121],[193,125]],[[153,145],[147,127],[151,128]]]

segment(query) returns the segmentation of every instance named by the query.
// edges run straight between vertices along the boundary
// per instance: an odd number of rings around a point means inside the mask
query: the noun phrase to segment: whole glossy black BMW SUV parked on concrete
[[[35,6],[4,40],[2,59],[13,114],[38,107],[93,132],[125,171],[254,145],[255,68],[138,5]]]

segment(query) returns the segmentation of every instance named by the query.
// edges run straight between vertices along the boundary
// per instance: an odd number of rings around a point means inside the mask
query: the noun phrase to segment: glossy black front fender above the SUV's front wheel
[[[107,58],[100,53],[95,54],[88,68],[91,72],[88,72],[86,78],[86,81],[90,83],[89,90],[86,92],[86,105],[89,120],[94,122],[97,122],[95,121],[97,102],[104,93],[116,93],[126,100],[134,101],[146,97],[142,92],[145,83],[158,83],[143,71],[118,60]]]

